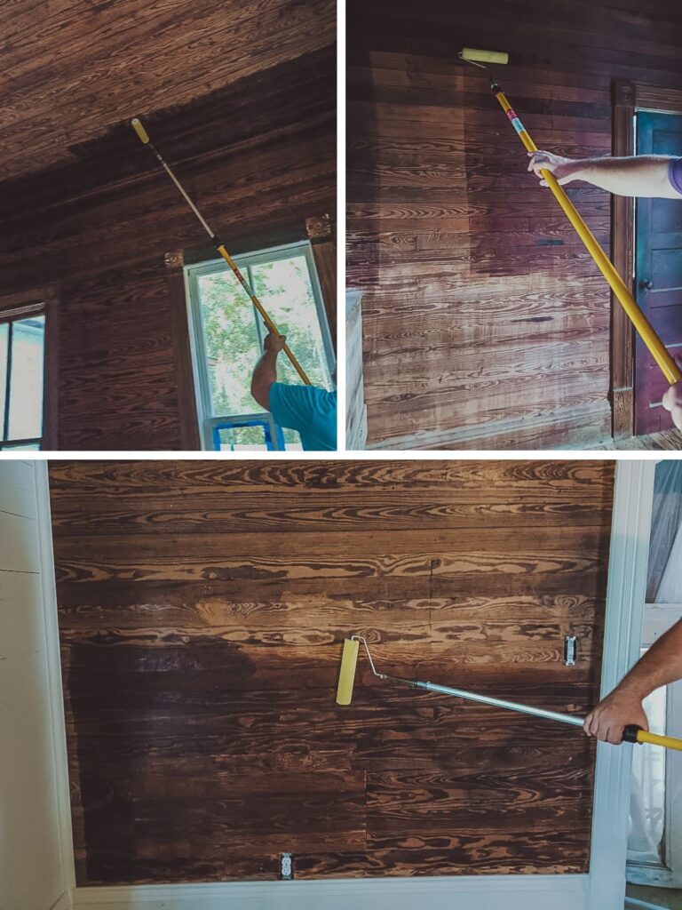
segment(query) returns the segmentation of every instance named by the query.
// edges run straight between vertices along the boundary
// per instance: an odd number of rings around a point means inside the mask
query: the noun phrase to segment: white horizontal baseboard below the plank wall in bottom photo
[[[76,888],[75,910],[585,910],[588,875]]]

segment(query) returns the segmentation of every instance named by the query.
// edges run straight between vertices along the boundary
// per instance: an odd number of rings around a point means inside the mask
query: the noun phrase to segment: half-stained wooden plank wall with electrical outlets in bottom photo
[[[50,466],[78,882],[587,872],[608,461]],[[563,641],[577,634],[575,667]]]

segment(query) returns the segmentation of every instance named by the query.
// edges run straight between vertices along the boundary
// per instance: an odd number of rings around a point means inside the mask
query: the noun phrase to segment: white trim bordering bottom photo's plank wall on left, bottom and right
[[[346,460],[381,460],[382,452],[348,453]],[[656,459],[617,462],[608,562],[601,693],[608,693],[639,656],[647,587],[648,541]],[[60,673],[57,600],[47,461],[35,461],[45,593],[45,628],[52,672],[55,785],[62,818],[62,855],[70,891],[54,910],[623,910],[631,744],[597,745],[592,849],[587,875],[443,875],[431,878],[317,879],[195,885],[75,886],[65,715]],[[614,836],[614,832],[620,832]],[[466,902],[466,903],[465,903]]]

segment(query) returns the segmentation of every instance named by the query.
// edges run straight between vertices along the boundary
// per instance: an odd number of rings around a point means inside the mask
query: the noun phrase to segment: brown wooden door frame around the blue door
[[[633,117],[637,110],[682,114],[682,91],[617,79],[613,84],[614,157],[634,155]],[[611,258],[617,272],[636,294],[634,276],[635,200],[611,197]],[[611,401],[615,440],[635,434],[635,335],[625,310],[611,294]]]

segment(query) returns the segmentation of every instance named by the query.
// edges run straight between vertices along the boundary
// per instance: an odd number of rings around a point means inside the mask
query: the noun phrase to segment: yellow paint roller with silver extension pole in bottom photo
[[[503,698],[493,698],[491,695],[481,695],[478,693],[467,692],[465,689],[454,689],[452,686],[437,685],[436,682],[420,682],[419,680],[406,680],[400,676],[390,676],[388,673],[377,672],[372,654],[369,651],[369,645],[362,635],[351,635],[344,642],[344,650],[341,654],[341,667],[338,674],[338,685],[336,687],[336,703],[348,705],[353,699],[353,686],[356,679],[356,666],[359,653],[360,642],[363,643],[372,669],[373,675],[377,679],[388,682],[395,682],[398,685],[410,686],[412,689],[423,689],[426,692],[436,692],[441,695],[453,695],[455,698],[463,698],[468,702],[478,702],[488,704],[495,708],[503,708],[505,711],[516,711],[521,714],[531,714],[533,717],[542,717],[547,721],[557,723],[570,723],[576,727],[582,727],[585,722],[584,717],[578,717],[576,714],[565,714],[558,711],[547,711],[545,708],[536,708],[530,704],[520,704],[518,702],[509,702]],[[660,736],[657,733],[647,733],[635,723],[628,724],[623,731],[623,741],[626,743],[650,743],[651,745],[663,746],[666,749],[675,749],[682,752],[682,740],[674,736]]]

